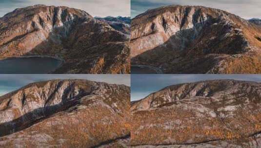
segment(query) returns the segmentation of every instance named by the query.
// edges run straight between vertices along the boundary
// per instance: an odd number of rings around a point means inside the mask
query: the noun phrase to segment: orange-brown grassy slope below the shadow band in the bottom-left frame
[[[128,136],[130,129],[127,118],[97,103],[85,109],[58,113],[14,135],[23,138],[22,145],[26,148],[36,148],[39,143],[55,148],[91,148],[104,142],[114,143],[115,140]],[[35,134],[46,134],[53,139],[32,141]],[[11,147],[13,142],[8,143],[7,146],[10,147],[5,148],[15,148]],[[115,142],[113,145],[117,148],[118,144]]]

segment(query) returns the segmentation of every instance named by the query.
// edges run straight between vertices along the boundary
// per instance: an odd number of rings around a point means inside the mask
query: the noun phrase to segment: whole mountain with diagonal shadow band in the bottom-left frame
[[[50,80],[0,97],[1,148],[127,148],[129,122],[125,85]]]

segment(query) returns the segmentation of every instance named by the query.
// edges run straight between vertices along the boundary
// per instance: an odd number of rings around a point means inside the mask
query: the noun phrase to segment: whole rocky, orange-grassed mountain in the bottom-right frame
[[[166,87],[131,105],[133,148],[259,148],[261,83]]]

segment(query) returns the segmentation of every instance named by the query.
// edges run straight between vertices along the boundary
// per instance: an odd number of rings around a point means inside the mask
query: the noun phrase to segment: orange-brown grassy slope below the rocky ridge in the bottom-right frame
[[[249,141],[261,131],[260,117],[261,111],[247,107],[238,108],[233,116],[216,111],[216,117],[207,112],[197,116],[195,110],[182,107],[139,111],[133,113],[131,145]]]

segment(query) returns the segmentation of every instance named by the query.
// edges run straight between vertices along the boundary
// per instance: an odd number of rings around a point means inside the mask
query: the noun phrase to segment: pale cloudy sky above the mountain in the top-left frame
[[[130,16],[130,0],[0,0],[0,17],[16,8],[35,4],[68,6],[92,16]]]

